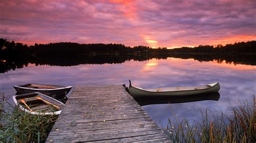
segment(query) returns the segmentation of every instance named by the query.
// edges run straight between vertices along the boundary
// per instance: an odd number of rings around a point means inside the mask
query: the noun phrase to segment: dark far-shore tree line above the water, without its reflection
[[[55,56],[55,55],[89,55],[90,53],[114,54],[161,54],[161,53],[256,53],[256,41],[236,42],[211,46],[181,47],[168,49],[166,47],[151,48],[148,46],[125,46],[123,44],[78,44],[75,42],[57,42],[49,44],[23,45],[15,41],[0,39],[0,56]]]

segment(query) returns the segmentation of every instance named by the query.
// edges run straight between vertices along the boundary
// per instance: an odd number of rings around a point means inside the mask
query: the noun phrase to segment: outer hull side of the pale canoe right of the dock
[[[208,84],[211,85],[211,84]],[[182,88],[182,87],[181,87]],[[164,91],[164,92],[153,92],[146,91],[137,87],[130,86],[129,94],[133,97],[146,97],[146,96],[187,96],[187,95],[197,95],[205,94],[211,92],[218,92],[220,89],[219,83],[214,83],[209,88],[206,89],[195,89],[195,90],[179,90],[179,91]]]

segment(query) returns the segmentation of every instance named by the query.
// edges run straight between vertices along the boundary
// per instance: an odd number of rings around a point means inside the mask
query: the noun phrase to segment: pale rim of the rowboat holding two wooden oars
[[[51,99],[53,99],[54,101],[56,101],[56,102],[62,104],[63,107],[65,106],[64,103],[58,101],[57,99],[52,98],[52,97],[47,96],[47,95],[44,95],[44,94],[41,94],[40,92],[32,92],[32,93],[29,93],[29,94],[22,94],[22,96],[25,96],[25,95],[34,95],[34,94],[37,94],[37,95],[39,94],[39,95],[42,95],[42,96],[46,96],[46,97],[51,98]],[[17,99],[16,99],[17,96],[21,96],[21,95],[12,96],[12,100],[14,101],[14,103],[15,103],[17,106],[19,106],[19,109],[21,109],[22,111],[25,111],[25,112],[27,112],[27,113],[31,113],[32,115],[59,115],[59,114],[62,112],[62,110],[55,111],[55,112],[33,112],[33,111],[31,112],[31,111],[29,111],[28,109],[24,108],[22,105],[20,105],[20,104],[18,103],[18,101],[17,101]]]

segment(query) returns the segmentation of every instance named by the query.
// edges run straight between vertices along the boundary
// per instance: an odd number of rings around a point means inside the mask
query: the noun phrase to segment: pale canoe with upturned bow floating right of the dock
[[[195,94],[205,94],[210,92],[218,92],[220,89],[220,84],[218,82],[192,86],[192,87],[170,87],[170,88],[154,88],[154,89],[143,89],[134,87],[129,80],[129,88],[124,87],[126,91],[133,97],[143,97],[143,96],[186,96]]]

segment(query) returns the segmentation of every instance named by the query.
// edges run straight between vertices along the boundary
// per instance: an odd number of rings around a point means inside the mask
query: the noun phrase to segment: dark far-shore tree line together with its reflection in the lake
[[[118,52],[119,54],[90,55],[90,52]],[[238,42],[226,46],[217,45],[215,47],[200,45],[194,48],[154,49],[147,46],[127,47],[122,44],[77,44],[72,42],[28,46],[0,39],[0,73],[26,67],[29,63],[33,63],[36,66],[76,66],[80,64],[115,64],[130,60],[145,61],[153,58],[167,59],[169,57],[194,59],[197,61],[218,60],[221,62],[225,60],[227,63],[256,65],[254,60],[255,54],[255,41]]]

